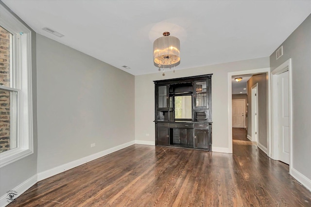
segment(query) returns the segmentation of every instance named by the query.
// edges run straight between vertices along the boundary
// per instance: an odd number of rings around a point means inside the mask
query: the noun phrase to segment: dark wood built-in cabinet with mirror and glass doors
[[[213,74],[155,82],[155,145],[211,151]]]

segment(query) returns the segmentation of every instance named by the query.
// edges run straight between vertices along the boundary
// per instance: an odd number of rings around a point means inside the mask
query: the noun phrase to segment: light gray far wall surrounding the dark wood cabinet
[[[269,58],[258,58],[224,64],[207,65],[184,70],[135,76],[135,137],[139,141],[155,142],[155,84],[164,80],[212,73],[213,145],[217,151],[228,151],[228,73],[268,68]],[[153,70],[157,70],[153,68]],[[230,83],[231,84],[231,83]],[[139,109],[139,110],[138,110]],[[231,118],[231,117],[230,117]],[[149,134],[149,136],[148,136]]]

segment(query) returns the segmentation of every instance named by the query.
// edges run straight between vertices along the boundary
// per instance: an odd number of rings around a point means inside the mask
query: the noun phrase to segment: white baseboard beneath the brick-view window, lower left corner
[[[19,184],[16,188],[12,189],[11,191],[8,191],[5,195],[1,196],[0,207],[5,207],[10,204],[11,201],[8,202],[9,200],[7,199],[8,193],[14,192],[15,194],[17,194],[17,196],[14,198],[17,198],[19,195],[21,195],[22,193],[30,189],[33,185],[35,185],[36,182],[37,182],[37,175],[34,175],[31,178],[24,181],[23,183]]]

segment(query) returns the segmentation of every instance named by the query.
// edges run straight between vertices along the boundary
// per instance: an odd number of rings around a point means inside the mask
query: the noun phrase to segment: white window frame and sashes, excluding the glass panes
[[[0,89],[17,91],[17,147],[0,153],[0,168],[34,153],[31,30],[0,4],[0,25],[14,34],[13,73],[11,87]],[[22,32],[20,34],[20,32]],[[11,67],[12,68],[12,67]],[[12,78],[12,77],[10,77]]]

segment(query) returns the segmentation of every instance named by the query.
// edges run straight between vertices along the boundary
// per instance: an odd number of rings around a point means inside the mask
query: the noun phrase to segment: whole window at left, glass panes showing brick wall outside
[[[31,31],[0,5],[0,167],[33,153]]]

